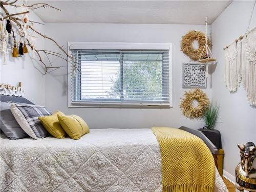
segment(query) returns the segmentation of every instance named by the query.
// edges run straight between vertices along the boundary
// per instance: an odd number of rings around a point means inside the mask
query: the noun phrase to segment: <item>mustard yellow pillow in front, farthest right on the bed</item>
[[[90,132],[86,122],[77,115],[58,115],[59,123],[63,130],[72,139],[79,139],[81,136]]]

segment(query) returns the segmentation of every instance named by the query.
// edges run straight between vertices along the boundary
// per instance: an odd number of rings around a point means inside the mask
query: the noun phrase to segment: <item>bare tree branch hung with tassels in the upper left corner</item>
[[[24,54],[29,52],[29,49],[33,52],[33,57],[37,57],[38,61],[41,63],[42,67],[44,68],[44,73],[49,73],[49,69],[58,69],[60,67],[54,67],[52,66],[51,60],[49,56],[56,56],[59,57],[65,61],[67,61],[70,65],[72,65],[73,69],[76,69],[76,59],[68,53],[68,51],[63,48],[63,46],[60,46],[57,41],[52,39],[51,37],[48,37],[39,31],[37,31],[34,28],[34,23],[41,24],[39,22],[33,22],[32,20],[29,20],[28,14],[29,10],[35,10],[39,8],[51,8],[59,10],[58,8],[55,8],[49,4],[46,3],[36,3],[33,5],[25,5],[22,3],[21,5],[17,4],[18,1],[1,1],[0,0],[0,7],[3,10],[3,17],[0,17],[0,53],[3,54],[3,65],[6,65],[6,55],[8,53],[12,53],[12,57],[22,57]],[[7,7],[15,7],[21,8],[22,11],[18,13],[9,13],[7,10]],[[6,21],[6,27],[4,26],[4,23]],[[44,24],[42,24],[44,25]],[[14,30],[16,30],[17,33],[14,33]],[[32,35],[31,32],[44,37],[45,39],[48,39],[52,41],[58,48],[60,53],[53,52],[50,50],[38,50],[35,46],[35,39],[36,36]],[[17,41],[18,40],[18,41]],[[46,56],[46,58],[44,56]],[[47,59],[46,62],[44,59]],[[47,65],[47,63],[50,63]]]

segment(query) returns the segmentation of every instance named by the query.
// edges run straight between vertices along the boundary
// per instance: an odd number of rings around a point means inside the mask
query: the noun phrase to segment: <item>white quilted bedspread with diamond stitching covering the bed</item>
[[[1,134],[1,191],[161,191],[151,129],[90,130],[79,140]],[[216,191],[227,191],[216,172]]]

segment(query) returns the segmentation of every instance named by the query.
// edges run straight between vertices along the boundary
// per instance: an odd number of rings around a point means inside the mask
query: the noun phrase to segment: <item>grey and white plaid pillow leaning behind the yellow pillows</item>
[[[12,103],[11,112],[20,127],[22,127],[30,137],[39,139],[49,135],[38,119],[38,117],[52,114],[45,106]]]

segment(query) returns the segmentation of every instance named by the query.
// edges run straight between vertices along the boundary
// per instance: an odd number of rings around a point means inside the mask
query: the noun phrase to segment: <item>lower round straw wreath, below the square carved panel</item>
[[[194,99],[198,101],[196,108],[192,105]],[[207,95],[200,89],[195,89],[194,91],[185,91],[184,98],[181,99],[180,109],[187,118],[200,119],[208,109],[209,104],[210,101]]]

